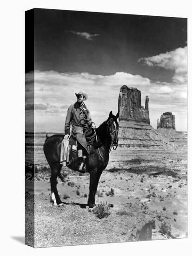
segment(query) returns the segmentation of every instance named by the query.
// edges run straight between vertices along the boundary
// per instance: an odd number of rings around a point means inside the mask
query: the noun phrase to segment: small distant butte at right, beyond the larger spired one
[[[160,117],[160,122],[159,119],[157,120],[157,129],[158,128],[172,128],[175,130],[175,115],[172,115],[172,112],[163,113]]]

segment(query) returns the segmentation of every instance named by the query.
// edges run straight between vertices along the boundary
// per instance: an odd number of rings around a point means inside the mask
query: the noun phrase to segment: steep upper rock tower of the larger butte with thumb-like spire
[[[123,85],[119,92],[119,120],[145,122],[149,120],[149,97],[146,96],[145,108],[141,106],[141,92],[137,88]]]

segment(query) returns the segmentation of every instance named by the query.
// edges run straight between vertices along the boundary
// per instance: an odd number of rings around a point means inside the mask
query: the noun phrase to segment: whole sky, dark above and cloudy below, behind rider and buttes
[[[187,19],[35,9],[33,72],[26,62],[26,131],[64,132],[75,93],[96,126],[118,111],[120,87],[149,96],[153,128],[163,112],[187,130]],[[34,93],[34,99],[33,99]]]

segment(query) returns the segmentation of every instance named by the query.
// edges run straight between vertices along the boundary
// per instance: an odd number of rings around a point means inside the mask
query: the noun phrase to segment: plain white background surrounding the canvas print
[[[152,0],[145,1],[50,1],[50,0],[29,0],[10,1],[7,0],[1,7],[1,154],[5,154],[1,160],[1,235],[3,239],[2,251],[6,254],[13,254],[16,251],[27,255],[52,255],[62,253],[70,255],[117,255],[119,253],[132,255],[189,255],[191,230],[188,231],[188,239],[149,241],[138,243],[116,243],[99,244],[89,246],[70,246],[57,248],[34,249],[27,247],[22,241],[24,236],[24,11],[34,7],[54,8],[66,10],[83,10],[112,13],[145,14],[158,16],[172,16],[188,18],[188,57],[191,55],[191,13],[190,2],[176,0]],[[191,95],[191,61],[188,59],[188,144],[190,155],[191,144],[191,118],[190,118],[190,95]],[[10,103],[11,102],[11,103]],[[7,137],[9,138],[7,140]],[[11,150],[11,155],[8,154]],[[189,157],[188,166],[188,227],[192,226],[191,216],[191,160]],[[5,175],[5,177],[4,177]],[[16,239],[17,238],[17,239]],[[1,240],[2,241],[2,240]]]

